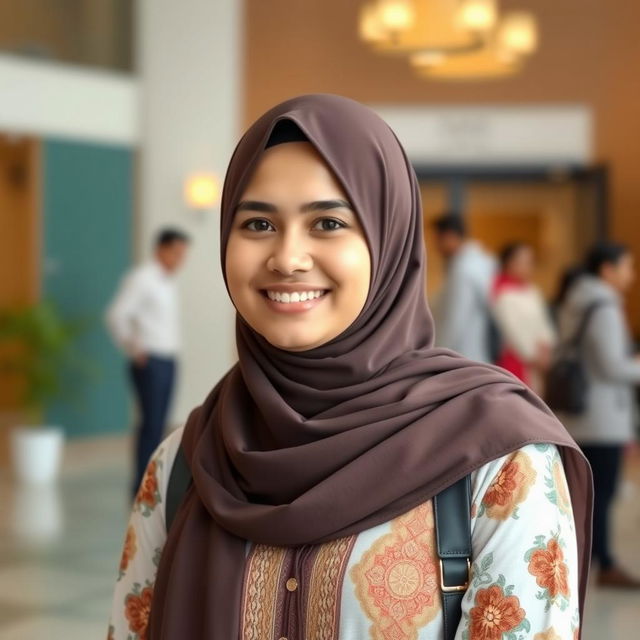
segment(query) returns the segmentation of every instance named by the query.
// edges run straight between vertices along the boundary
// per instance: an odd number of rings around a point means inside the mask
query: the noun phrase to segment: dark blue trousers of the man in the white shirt
[[[136,429],[133,495],[140,486],[151,454],[162,440],[175,372],[176,361],[173,358],[149,356],[142,366],[129,363],[140,412],[140,423]]]

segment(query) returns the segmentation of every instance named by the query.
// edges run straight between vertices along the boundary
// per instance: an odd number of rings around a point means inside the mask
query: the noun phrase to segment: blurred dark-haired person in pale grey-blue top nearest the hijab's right
[[[459,215],[433,223],[436,246],[445,262],[445,282],[436,304],[436,344],[471,360],[491,362],[490,291],[496,261],[467,237]]]

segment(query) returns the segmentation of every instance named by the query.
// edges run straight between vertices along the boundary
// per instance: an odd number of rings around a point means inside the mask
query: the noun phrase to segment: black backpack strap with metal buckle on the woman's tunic
[[[453,640],[471,573],[471,479],[461,478],[433,498],[440,558],[444,638]]]

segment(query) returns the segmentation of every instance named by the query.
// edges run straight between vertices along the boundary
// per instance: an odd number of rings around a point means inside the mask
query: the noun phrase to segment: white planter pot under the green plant
[[[11,454],[16,478],[26,484],[50,484],[58,477],[64,431],[60,427],[16,427]]]

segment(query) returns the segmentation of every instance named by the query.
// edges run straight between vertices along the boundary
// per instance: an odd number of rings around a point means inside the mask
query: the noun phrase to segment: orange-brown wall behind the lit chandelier
[[[371,53],[356,37],[363,0],[246,0],[245,124],[277,101],[328,91],[382,103],[581,102],[595,115],[597,161],[612,168],[611,231],[640,258],[640,3],[503,0],[535,10],[540,51],[520,75],[437,83],[406,62]],[[630,297],[640,331],[640,296]]]

